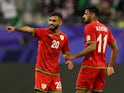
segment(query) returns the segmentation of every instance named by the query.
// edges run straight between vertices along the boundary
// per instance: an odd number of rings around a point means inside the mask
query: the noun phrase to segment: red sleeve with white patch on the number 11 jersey
[[[86,44],[96,43],[96,34],[94,30],[95,29],[90,25],[87,25],[85,27],[84,34],[85,34]]]

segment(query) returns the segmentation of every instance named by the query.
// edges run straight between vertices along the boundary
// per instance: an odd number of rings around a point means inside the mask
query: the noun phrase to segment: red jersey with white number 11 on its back
[[[84,40],[86,47],[96,43],[96,50],[85,56],[83,66],[106,67],[107,45],[115,42],[110,29],[98,21],[89,23],[84,28]]]

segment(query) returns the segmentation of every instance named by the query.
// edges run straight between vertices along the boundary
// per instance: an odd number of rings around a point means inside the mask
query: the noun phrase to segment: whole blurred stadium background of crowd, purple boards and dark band
[[[104,93],[123,93],[124,0],[0,0],[0,93],[34,93],[34,68],[37,39],[27,33],[8,33],[2,26],[47,27],[49,14],[63,14],[61,30],[69,37],[72,53],[84,48],[82,11],[87,5],[100,9],[100,21],[110,27],[119,46],[115,75],[107,77]],[[107,61],[110,49],[107,50]],[[63,93],[74,93],[83,58],[73,60],[72,71],[60,55]]]

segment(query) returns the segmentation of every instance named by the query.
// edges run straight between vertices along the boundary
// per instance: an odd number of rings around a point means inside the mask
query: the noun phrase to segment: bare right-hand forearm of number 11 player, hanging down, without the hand
[[[114,66],[117,55],[118,55],[118,48],[115,48],[112,50],[112,53],[111,53],[110,62],[108,64],[109,67]]]

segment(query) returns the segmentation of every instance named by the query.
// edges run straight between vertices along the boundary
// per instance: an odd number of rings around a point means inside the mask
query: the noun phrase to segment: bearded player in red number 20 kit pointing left
[[[38,38],[38,53],[35,69],[35,90],[37,93],[62,93],[58,59],[69,54],[68,37],[60,31],[62,15],[54,12],[49,17],[49,28],[31,28],[28,26],[5,26],[8,32],[28,32]],[[66,59],[68,68],[73,63]]]

